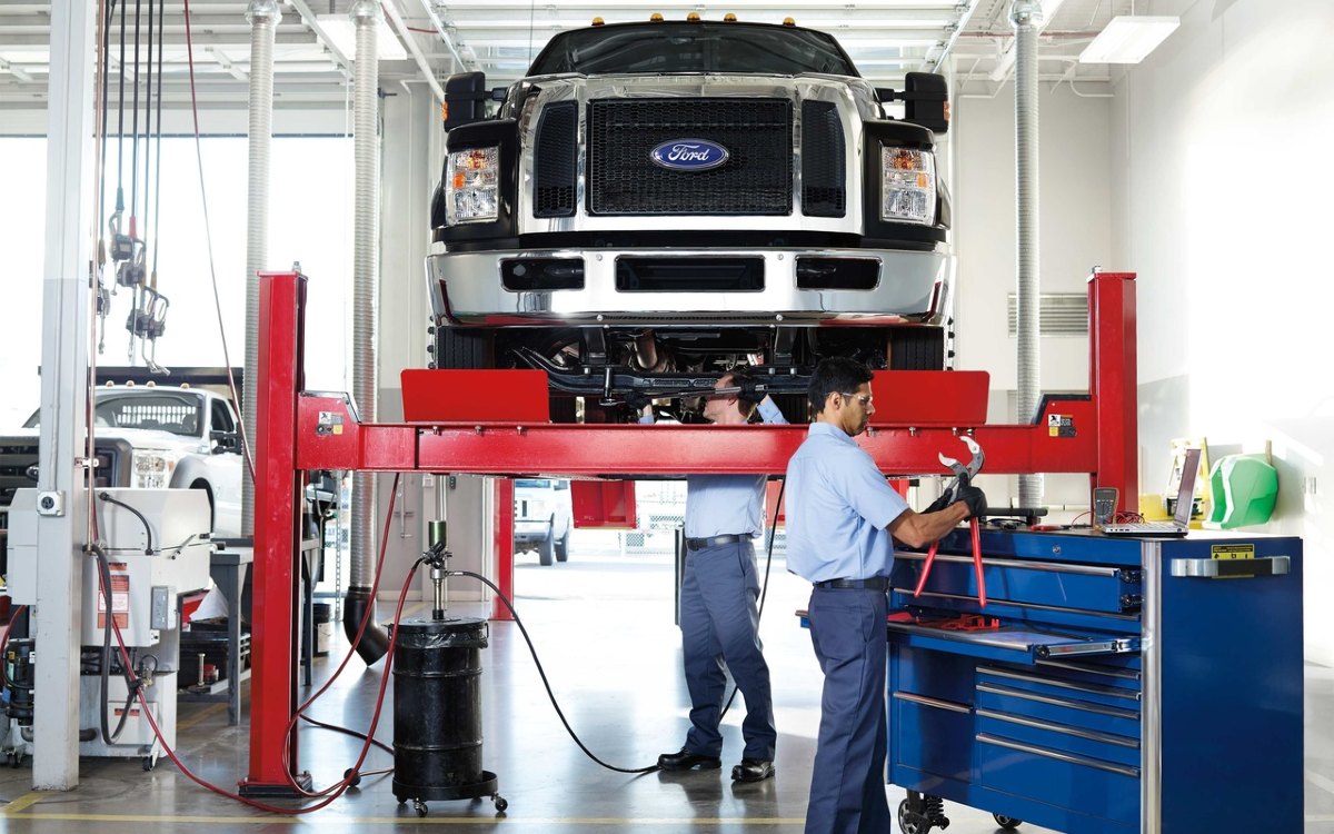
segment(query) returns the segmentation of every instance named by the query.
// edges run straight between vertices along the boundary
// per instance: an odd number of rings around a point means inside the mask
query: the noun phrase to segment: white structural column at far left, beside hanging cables
[[[41,452],[37,487],[64,512],[37,523],[36,715],[32,786],[79,786],[79,638],[89,492],[89,270],[96,3],[51,5],[47,254],[43,279]],[[39,503],[41,503],[39,498]]]

